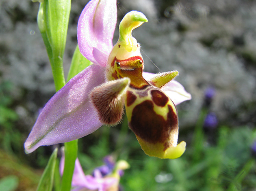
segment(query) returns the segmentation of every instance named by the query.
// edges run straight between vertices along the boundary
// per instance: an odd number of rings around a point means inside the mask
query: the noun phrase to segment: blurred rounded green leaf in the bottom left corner
[[[17,176],[7,176],[0,179],[0,190],[15,191],[18,187],[19,179]]]

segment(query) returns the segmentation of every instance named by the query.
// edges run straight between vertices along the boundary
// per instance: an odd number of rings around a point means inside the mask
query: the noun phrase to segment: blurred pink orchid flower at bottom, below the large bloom
[[[60,161],[60,174],[64,171],[65,154],[63,148],[61,149],[61,161]],[[130,165],[124,161],[119,160],[117,163],[113,163],[113,168],[109,169],[106,174],[102,173],[100,168],[96,168],[93,171],[93,175],[85,175],[82,170],[82,166],[76,158],[74,173],[72,177],[72,191],[117,191],[120,175],[119,171],[126,170]]]

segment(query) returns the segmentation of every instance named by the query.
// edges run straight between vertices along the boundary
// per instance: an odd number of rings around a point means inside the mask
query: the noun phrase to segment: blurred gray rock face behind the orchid
[[[133,32],[141,43],[145,71],[178,70],[177,81],[192,94],[191,101],[178,106],[180,125],[195,123],[204,102],[204,90],[210,85],[216,88],[210,110],[223,122],[249,124],[245,118],[255,109],[239,113],[241,107],[256,102],[256,3],[180,0],[165,7],[165,1],[158,2],[122,0],[118,4],[119,21],[130,10],[142,11],[148,17],[149,22]],[[76,25],[85,4],[72,1],[65,74],[76,47]],[[0,3],[0,77],[15,85],[15,98],[23,96],[24,89],[32,94],[30,98],[54,93],[48,56],[36,23],[38,6],[18,0]],[[114,39],[117,38],[118,32]],[[26,102],[25,109],[30,111],[43,106],[42,102]],[[240,118],[231,118],[234,115]]]

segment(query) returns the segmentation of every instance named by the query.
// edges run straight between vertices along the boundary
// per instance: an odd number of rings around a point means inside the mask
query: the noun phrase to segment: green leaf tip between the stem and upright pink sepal
[[[78,74],[91,64],[92,63],[80,53],[77,45],[76,50],[74,51],[74,55],[72,57],[71,66],[69,68],[69,73],[67,75],[67,81],[72,79],[76,74]]]

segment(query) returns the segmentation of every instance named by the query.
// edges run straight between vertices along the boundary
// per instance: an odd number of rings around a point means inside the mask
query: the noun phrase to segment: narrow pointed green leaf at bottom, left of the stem
[[[52,190],[54,170],[55,170],[56,158],[57,158],[57,151],[58,151],[57,148],[53,151],[53,153],[48,161],[48,164],[47,164],[45,170],[43,171],[43,175],[41,176],[41,179],[39,181],[37,191],[51,191]]]

